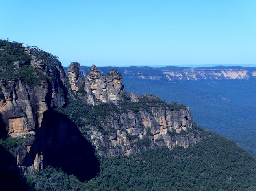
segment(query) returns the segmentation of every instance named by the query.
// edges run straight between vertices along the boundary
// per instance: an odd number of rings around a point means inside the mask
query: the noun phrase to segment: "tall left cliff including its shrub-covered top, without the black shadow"
[[[24,48],[18,43],[9,45],[18,48],[19,56],[8,60],[6,51],[1,58],[5,69],[0,74],[0,128],[23,142],[12,154],[24,173],[32,173],[43,168],[43,150],[36,144],[36,137],[44,123],[45,112],[65,105],[66,75],[60,63],[49,63],[53,59],[49,53]],[[46,54],[48,60],[42,60],[42,55],[35,56],[41,53]],[[20,61],[20,57],[24,60]]]

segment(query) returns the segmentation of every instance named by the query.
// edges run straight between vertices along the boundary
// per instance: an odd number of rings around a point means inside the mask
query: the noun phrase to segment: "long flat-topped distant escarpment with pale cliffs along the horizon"
[[[99,71],[108,73],[110,69],[117,69],[124,78],[141,80],[158,80],[160,82],[198,81],[198,80],[249,80],[256,78],[256,67],[216,66],[216,67],[99,67]],[[64,68],[67,72],[67,68]],[[90,67],[80,67],[85,77]]]

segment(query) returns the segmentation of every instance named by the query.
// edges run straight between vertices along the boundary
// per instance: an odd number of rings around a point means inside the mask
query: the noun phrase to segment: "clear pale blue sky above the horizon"
[[[1,0],[0,38],[64,66],[255,64],[256,0]]]

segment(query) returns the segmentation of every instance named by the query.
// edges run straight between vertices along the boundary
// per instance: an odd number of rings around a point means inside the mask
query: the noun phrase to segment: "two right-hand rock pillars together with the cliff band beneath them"
[[[101,129],[91,124],[80,127],[100,155],[130,154],[159,146],[188,147],[202,139],[200,131],[191,130],[193,119],[188,107],[166,104],[153,95],[137,96],[135,92],[128,95],[117,70],[105,76],[93,65],[84,83],[86,96],[77,93],[84,103],[116,105],[116,111],[108,117],[95,118]],[[81,119],[85,124],[89,120]]]

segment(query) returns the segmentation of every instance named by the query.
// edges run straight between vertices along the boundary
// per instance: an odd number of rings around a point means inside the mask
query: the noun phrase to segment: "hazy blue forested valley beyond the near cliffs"
[[[90,67],[81,66],[86,72]],[[154,94],[167,102],[178,102],[189,106],[193,119],[206,129],[227,136],[239,146],[256,155],[256,80],[198,80],[166,81],[127,78],[128,69],[145,75],[163,75],[162,69],[152,67],[128,68],[99,67],[105,74],[112,68],[123,74],[126,91],[135,91],[138,95]],[[246,69],[255,71],[255,67],[212,67],[212,69]],[[171,71],[180,71],[185,67],[165,67]],[[129,75],[129,74],[128,74]]]

